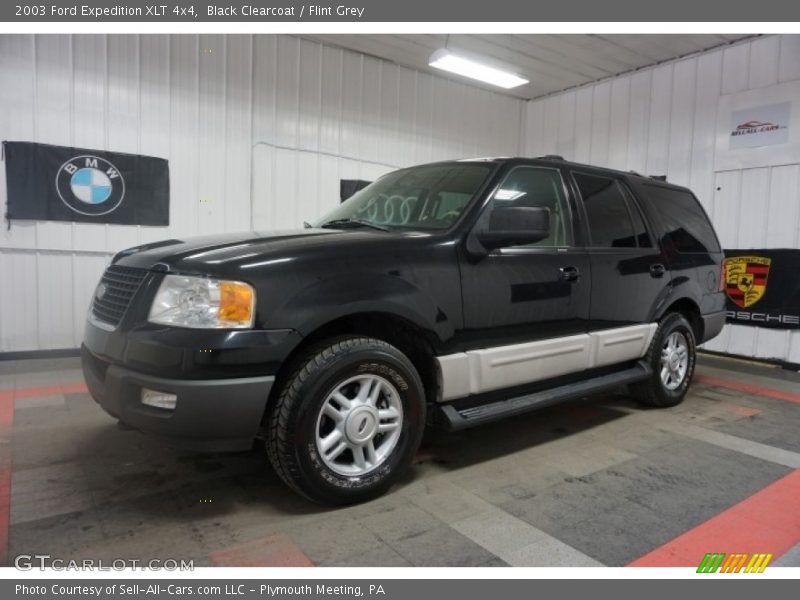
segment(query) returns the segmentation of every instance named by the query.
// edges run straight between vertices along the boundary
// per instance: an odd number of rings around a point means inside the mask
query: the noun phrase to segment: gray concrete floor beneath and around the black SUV
[[[700,375],[800,393],[796,373],[700,363]],[[441,433],[391,493],[332,510],[287,490],[260,448],[187,454],[120,427],[59,387],[81,381],[77,359],[0,362],[0,393],[53,387],[17,393],[5,436],[10,557],[618,566],[800,468],[800,403],[698,382],[673,409],[620,391]],[[781,564],[800,565],[798,549]]]

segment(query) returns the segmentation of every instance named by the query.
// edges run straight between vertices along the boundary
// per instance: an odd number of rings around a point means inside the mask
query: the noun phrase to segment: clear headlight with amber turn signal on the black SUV
[[[197,329],[247,329],[255,318],[256,293],[241,281],[167,275],[148,321]]]

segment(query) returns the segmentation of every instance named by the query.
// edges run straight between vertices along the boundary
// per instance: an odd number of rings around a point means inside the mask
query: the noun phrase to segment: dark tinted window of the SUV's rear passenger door
[[[572,176],[589,218],[592,246],[636,248],[637,233],[617,180],[586,173],[573,173]]]

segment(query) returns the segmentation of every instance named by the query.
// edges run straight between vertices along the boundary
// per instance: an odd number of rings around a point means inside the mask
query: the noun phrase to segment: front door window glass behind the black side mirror
[[[572,220],[561,173],[541,167],[516,167],[492,196],[487,218],[498,207],[546,208],[550,211],[550,236],[528,246],[572,245]]]

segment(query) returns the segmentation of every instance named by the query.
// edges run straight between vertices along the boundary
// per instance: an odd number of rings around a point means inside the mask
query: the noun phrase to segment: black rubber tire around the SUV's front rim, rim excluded
[[[402,422],[383,462],[353,477],[335,472],[320,457],[318,419],[337,385],[365,374],[394,386],[402,403]],[[271,407],[266,447],[275,471],[297,493],[320,504],[354,504],[392,486],[411,465],[424,428],[425,392],[411,361],[381,340],[342,337],[317,345],[298,361]]]

